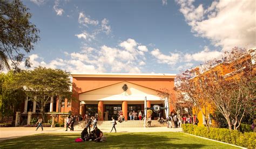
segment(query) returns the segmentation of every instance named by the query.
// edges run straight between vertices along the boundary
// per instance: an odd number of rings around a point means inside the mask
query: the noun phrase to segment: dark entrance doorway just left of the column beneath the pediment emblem
[[[121,108],[121,104],[106,104],[105,111],[108,112],[108,120],[112,120],[112,117],[117,120]]]

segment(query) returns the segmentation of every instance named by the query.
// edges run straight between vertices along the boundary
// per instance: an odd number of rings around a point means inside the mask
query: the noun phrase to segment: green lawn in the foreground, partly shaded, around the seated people
[[[79,133],[41,133],[0,142],[0,148],[235,148],[183,132],[104,133],[104,143],[75,143]]]

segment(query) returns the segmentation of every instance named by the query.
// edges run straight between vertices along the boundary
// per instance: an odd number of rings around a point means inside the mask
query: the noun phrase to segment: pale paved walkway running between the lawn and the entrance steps
[[[66,129],[64,129],[64,127],[44,127],[44,131],[41,131],[40,127],[37,131],[35,131],[35,129],[36,127],[0,127],[0,141],[12,139],[12,138],[18,138],[22,136],[29,136],[29,135],[38,134],[38,133],[80,133],[82,132],[82,129],[78,129],[75,131],[65,131]],[[109,132],[111,130],[111,127],[109,129],[106,129],[106,128],[101,129],[99,126],[99,129],[103,132]],[[182,129],[181,128],[169,129],[167,127],[117,128],[117,132],[166,132],[166,131],[181,132]]]

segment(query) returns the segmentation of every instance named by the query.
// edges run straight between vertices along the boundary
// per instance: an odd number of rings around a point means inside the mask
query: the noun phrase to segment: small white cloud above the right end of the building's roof
[[[174,66],[180,58],[179,53],[170,53],[170,55],[165,55],[162,54],[158,48],[151,51],[151,54],[157,59],[158,63],[167,63],[170,66]]]

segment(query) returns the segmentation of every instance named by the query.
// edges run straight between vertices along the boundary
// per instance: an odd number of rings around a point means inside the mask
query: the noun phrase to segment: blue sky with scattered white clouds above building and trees
[[[256,47],[255,3],[26,0],[41,38],[30,69],[178,74],[235,46]]]

